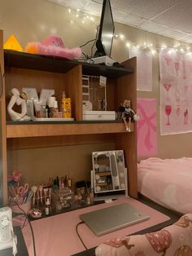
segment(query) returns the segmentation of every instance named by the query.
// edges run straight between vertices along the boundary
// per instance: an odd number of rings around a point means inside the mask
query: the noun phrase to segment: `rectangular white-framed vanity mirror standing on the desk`
[[[92,152],[94,193],[126,190],[123,150]]]

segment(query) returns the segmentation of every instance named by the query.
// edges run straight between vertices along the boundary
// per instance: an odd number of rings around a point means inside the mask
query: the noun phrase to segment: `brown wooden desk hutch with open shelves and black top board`
[[[55,145],[55,143],[60,145],[61,140],[63,145],[68,145],[68,136],[71,144],[89,143],[90,138],[91,141],[97,143],[97,141],[105,141],[106,138],[106,141],[112,140],[116,144],[114,149],[123,149],[125,166],[128,167],[129,173],[129,195],[137,198],[137,130],[135,123],[131,126],[131,132],[126,132],[121,121],[83,121],[81,80],[82,75],[107,77],[107,110],[117,110],[124,99],[130,99],[133,109],[136,109],[136,58],[125,61],[124,68],[116,68],[18,51],[3,51],[2,30],[0,30],[0,42],[1,66],[2,70],[5,69],[3,95],[0,101],[2,125],[0,161],[3,170],[4,201],[7,201],[7,149],[11,145],[19,148],[24,143],[29,146],[32,138],[38,138],[35,145],[40,148],[41,144],[45,145],[46,138],[49,138],[49,145]],[[11,88],[16,87],[21,90],[22,87],[36,87],[39,94],[41,89],[53,89],[53,86],[56,98],[59,98],[61,91],[64,90],[72,99],[72,117],[75,121],[51,121],[49,123],[10,121],[7,115],[7,104],[11,97]],[[62,139],[59,140],[59,137]],[[46,145],[48,145],[47,142]]]

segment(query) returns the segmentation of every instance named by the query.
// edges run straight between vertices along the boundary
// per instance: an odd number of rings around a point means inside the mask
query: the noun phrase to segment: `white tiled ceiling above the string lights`
[[[46,0],[101,15],[103,0]],[[192,0],[111,0],[113,19],[138,29],[192,43]]]

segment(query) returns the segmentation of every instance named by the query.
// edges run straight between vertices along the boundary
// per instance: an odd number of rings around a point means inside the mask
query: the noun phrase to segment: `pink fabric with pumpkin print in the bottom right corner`
[[[96,256],[192,255],[192,214],[177,223],[145,235],[116,237],[99,245]]]

